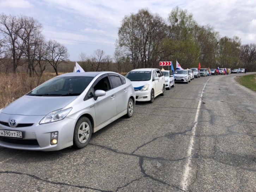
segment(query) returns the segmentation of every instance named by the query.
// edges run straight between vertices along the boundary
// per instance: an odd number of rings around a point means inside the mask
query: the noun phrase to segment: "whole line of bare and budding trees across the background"
[[[42,75],[51,66],[58,75],[60,63],[68,63],[65,45],[45,40],[42,24],[32,17],[0,14],[0,71]],[[159,68],[159,61],[177,60],[185,68],[226,67],[256,71],[256,44],[242,45],[239,37],[221,37],[210,25],[199,25],[193,15],[179,7],[167,19],[147,9],[124,16],[113,55],[97,49],[79,54],[85,71],[127,73],[136,68]]]

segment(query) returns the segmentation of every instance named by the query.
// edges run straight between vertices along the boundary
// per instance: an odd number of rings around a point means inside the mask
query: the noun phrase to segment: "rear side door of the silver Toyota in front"
[[[127,110],[128,97],[127,84],[124,83],[117,74],[109,74],[109,79],[116,95],[116,114],[121,114]]]

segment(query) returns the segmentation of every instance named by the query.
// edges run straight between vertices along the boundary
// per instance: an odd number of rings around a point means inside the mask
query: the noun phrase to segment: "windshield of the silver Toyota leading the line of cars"
[[[31,96],[76,96],[80,95],[93,77],[71,76],[53,78],[27,95]]]

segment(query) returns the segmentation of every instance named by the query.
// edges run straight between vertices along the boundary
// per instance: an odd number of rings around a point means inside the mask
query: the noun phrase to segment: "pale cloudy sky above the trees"
[[[37,19],[45,38],[66,45],[69,59],[78,61],[80,52],[90,56],[97,49],[112,56],[124,16],[148,8],[167,19],[176,6],[221,36],[256,43],[256,0],[0,0],[0,13]]]

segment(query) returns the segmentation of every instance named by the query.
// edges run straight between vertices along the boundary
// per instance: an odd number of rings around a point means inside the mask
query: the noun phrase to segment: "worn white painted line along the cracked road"
[[[212,79],[212,78],[209,78],[206,83],[208,83],[208,81]],[[206,86],[206,83],[205,83],[205,86]],[[189,142],[189,148],[188,148],[188,153],[187,153],[187,156],[188,156],[188,161],[185,165],[185,170],[184,170],[184,173],[183,173],[183,177],[182,177],[182,182],[181,182],[181,186],[182,186],[182,190],[186,191],[187,190],[187,187],[188,187],[188,176],[189,176],[189,173],[190,173],[190,163],[191,163],[191,153],[192,153],[192,149],[193,149],[193,144],[194,144],[194,135],[195,135],[195,131],[196,131],[196,125],[197,125],[197,120],[198,120],[198,116],[199,116],[199,111],[200,111],[200,106],[201,106],[201,103],[202,103],[202,97],[203,97],[203,91],[205,90],[205,86],[203,87],[203,90],[201,92],[201,96],[200,96],[200,100],[198,102],[198,106],[197,106],[197,110],[196,110],[196,117],[195,117],[195,121],[194,121],[194,126],[192,128],[192,134],[190,136],[190,142]]]

